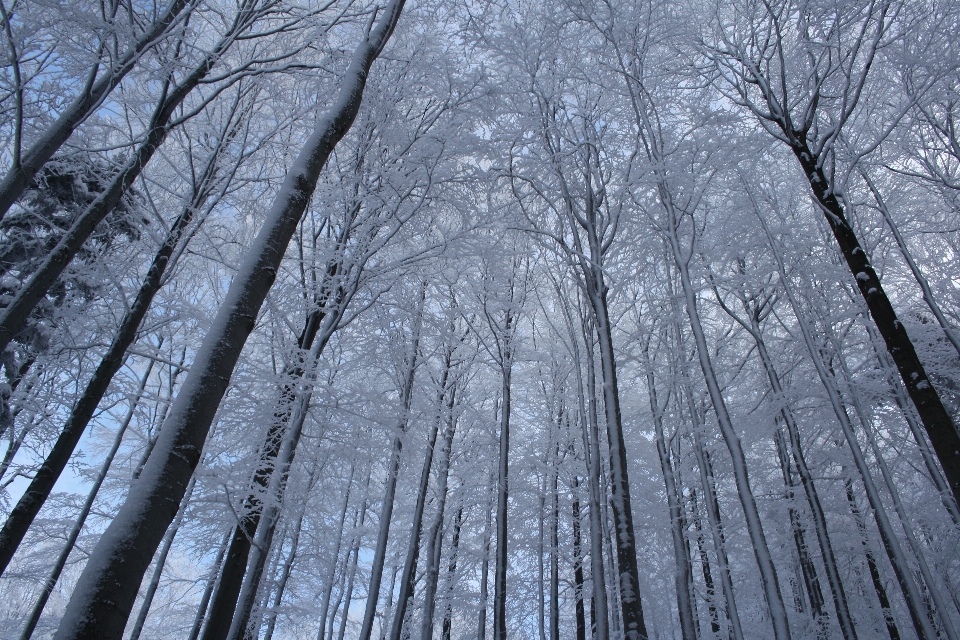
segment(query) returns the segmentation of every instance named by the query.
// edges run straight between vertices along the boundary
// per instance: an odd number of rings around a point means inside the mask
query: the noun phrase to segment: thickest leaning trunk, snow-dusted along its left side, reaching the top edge
[[[333,148],[353,124],[373,61],[403,9],[391,0],[354,53],[340,93],[321,117],[284,179],[263,228],[242,261],[212,329],[126,502],[94,548],[77,583],[57,640],[119,638],[136,587],[163,531],[176,515],[230,375],[270,290],[287,245]]]

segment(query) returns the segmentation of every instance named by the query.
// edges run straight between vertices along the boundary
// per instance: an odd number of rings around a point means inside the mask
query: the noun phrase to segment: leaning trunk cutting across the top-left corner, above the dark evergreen
[[[124,76],[136,66],[147,50],[170,33],[170,27],[177,22],[184,9],[196,4],[199,3],[195,3],[193,0],[173,0],[167,10],[150,25],[110,69],[100,76],[99,80],[95,77],[99,64],[94,66],[80,95],[64,109],[56,122],[50,125],[41,134],[40,138],[20,155],[19,162],[10,168],[7,175],[4,176],[3,182],[0,182],[0,219],[3,219],[13,203],[23,195],[30,182],[43,168],[43,165],[63,146],[63,143],[73,134],[74,130],[100,108],[104,98],[120,84]],[[192,11],[192,7],[190,10]]]

